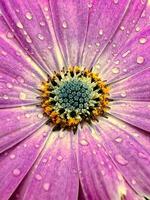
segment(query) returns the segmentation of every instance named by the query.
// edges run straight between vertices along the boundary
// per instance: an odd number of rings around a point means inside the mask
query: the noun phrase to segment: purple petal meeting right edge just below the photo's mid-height
[[[146,131],[150,131],[150,102],[114,101],[110,114]]]

